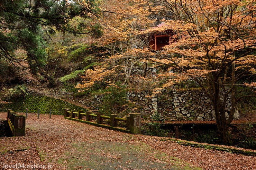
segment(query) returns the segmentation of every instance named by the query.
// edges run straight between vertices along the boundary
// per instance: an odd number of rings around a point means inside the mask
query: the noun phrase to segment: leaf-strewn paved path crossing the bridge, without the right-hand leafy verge
[[[1,143],[6,143],[1,149],[7,152],[1,156],[6,156],[6,165],[51,164],[54,169],[69,170],[198,169],[189,168],[188,163],[138,142],[131,134],[65,120],[63,116],[28,117],[25,137],[0,139]]]

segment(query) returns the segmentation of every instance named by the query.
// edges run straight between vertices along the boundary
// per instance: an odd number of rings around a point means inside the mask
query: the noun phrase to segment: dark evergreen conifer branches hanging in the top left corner
[[[90,5],[84,6],[80,1],[66,0],[59,0],[57,3],[52,0],[2,0],[0,59],[14,65],[25,61],[25,64],[22,63],[23,66],[28,64],[31,72],[36,74],[45,64],[42,26],[51,35],[61,31],[73,34],[87,33],[93,37],[100,37],[102,32],[98,30],[101,28],[97,24],[92,24],[92,21],[81,24],[80,21],[91,17],[91,12],[95,14],[99,11],[94,1],[86,0],[83,3]],[[22,64],[19,66],[21,67]]]

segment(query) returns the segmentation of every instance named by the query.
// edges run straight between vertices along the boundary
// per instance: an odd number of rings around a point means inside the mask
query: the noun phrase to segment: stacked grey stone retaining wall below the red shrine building
[[[127,92],[127,100],[135,102],[139,106],[139,113],[142,116],[155,113],[162,117],[169,117],[171,120],[215,120],[215,113],[212,102],[203,92],[170,92],[164,97],[147,97],[148,92],[140,93]],[[101,102],[104,96],[95,96],[95,103]],[[164,99],[163,99],[164,98]],[[94,103],[94,104],[95,104]],[[98,105],[98,104],[97,104]],[[231,109],[231,97],[228,96],[226,102],[226,118]],[[234,119],[240,119],[240,114],[236,109]]]

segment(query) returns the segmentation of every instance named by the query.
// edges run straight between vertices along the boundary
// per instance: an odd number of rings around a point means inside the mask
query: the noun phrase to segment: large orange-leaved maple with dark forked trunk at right
[[[233,120],[237,86],[255,75],[256,64],[255,0],[145,0],[148,9],[163,16],[174,35],[172,43],[155,52],[149,60],[165,64],[169,69],[160,76],[168,81],[163,88],[185,80],[198,83],[211,99],[222,143],[231,143],[228,127]],[[251,79],[252,80],[252,79]],[[228,97],[232,107],[226,109]],[[227,115],[225,115],[228,113]]]

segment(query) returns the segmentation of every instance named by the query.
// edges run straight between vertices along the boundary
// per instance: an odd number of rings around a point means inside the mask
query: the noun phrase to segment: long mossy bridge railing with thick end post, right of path
[[[112,130],[124,131],[131,134],[141,134],[141,120],[139,113],[130,113],[125,119],[119,118],[117,114],[104,116],[103,113],[93,113],[91,111],[83,113],[83,111],[64,109],[64,117],[65,119],[93,124]],[[122,130],[118,128],[118,126],[126,127],[126,130]]]

